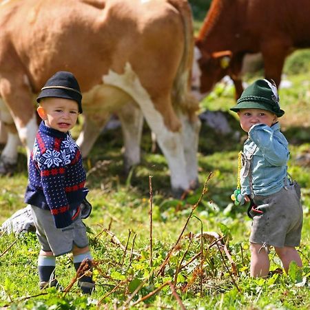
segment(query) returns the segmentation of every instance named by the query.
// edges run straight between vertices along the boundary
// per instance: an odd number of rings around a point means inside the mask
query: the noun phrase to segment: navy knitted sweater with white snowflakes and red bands
[[[85,180],[81,152],[70,133],[42,121],[30,156],[25,203],[50,209],[56,227],[67,227],[87,195]]]

